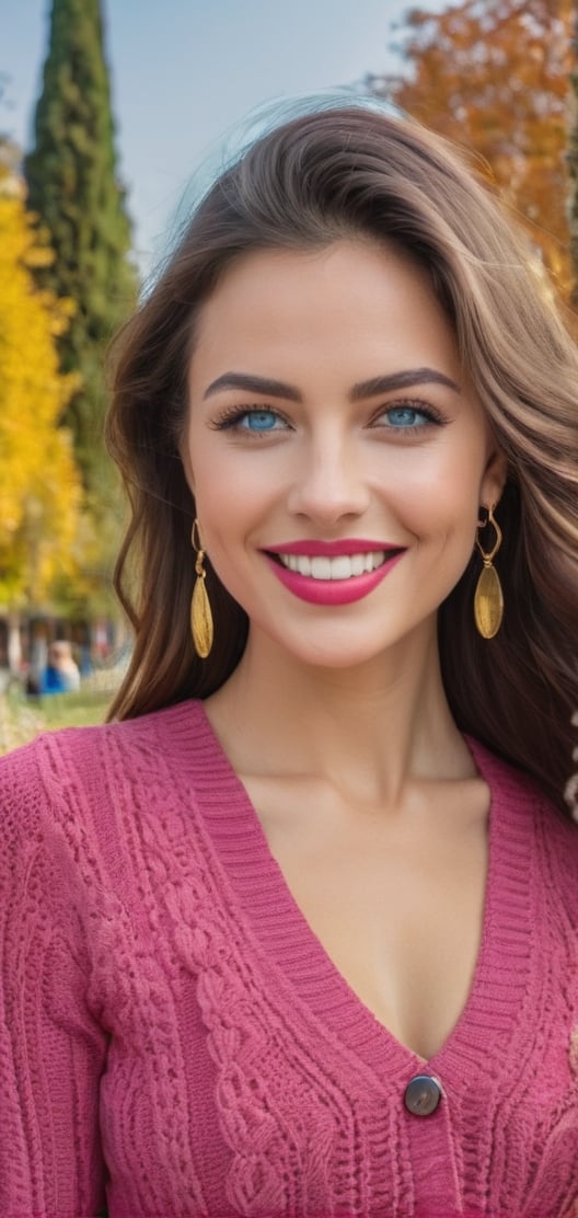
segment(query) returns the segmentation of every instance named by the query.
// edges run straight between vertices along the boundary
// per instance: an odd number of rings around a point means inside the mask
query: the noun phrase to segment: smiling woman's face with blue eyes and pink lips
[[[253,641],[343,667],[433,635],[505,462],[421,268],[353,240],[247,255],[201,313],[189,403],[203,547]]]

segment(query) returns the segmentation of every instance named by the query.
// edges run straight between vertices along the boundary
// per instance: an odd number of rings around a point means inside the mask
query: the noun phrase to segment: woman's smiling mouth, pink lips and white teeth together
[[[358,548],[354,542],[297,542],[263,553],[277,580],[299,600],[346,605],[369,596],[405,548],[377,548],[375,542],[358,542]]]

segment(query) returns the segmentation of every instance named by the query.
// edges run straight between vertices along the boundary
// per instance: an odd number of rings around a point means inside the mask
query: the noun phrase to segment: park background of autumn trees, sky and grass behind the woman
[[[122,676],[106,351],[256,111],[369,95],[462,144],[576,330],[577,7],[1,0],[0,752],[102,719]],[[82,688],[43,697],[56,638]]]

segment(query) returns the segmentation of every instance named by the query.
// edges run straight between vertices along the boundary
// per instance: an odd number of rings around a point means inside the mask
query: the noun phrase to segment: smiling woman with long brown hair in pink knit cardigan
[[[413,123],[201,203],[117,353],[114,721],[2,767],[2,1214],[577,1212],[577,365]]]

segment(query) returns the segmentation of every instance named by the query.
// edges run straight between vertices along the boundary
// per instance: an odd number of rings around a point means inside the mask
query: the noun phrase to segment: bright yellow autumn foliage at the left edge
[[[80,482],[72,437],[58,426],[75,379],[58,369],[56,337],[72,304],[40,291],[51,253],[34,230],[22,180],[0,164],[0,605],[40,608],[74,574]]]

